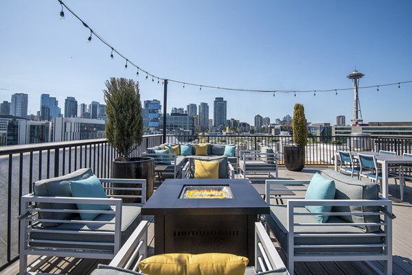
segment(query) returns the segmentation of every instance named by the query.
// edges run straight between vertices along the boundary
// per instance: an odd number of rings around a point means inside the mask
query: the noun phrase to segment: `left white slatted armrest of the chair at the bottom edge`
[[[148,221],[142,221],[137,226],[108,265],[137,271],[137,264],[147,257],[148,224]]]

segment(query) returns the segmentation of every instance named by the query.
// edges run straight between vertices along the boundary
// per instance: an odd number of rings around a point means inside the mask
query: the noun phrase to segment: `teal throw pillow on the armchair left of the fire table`
[[[71,195],[75,198],[107,198],[102,183],[96,176],[84,180],[73,180],[70,182]],[[79,210],[111,210],[108,204],[77,204]],[[92,221],[98,213],[80,213],[80,218]]]

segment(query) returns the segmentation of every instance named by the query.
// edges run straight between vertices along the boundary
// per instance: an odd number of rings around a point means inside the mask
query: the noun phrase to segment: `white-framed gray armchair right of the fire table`
[[[271,206],[266,222],[288,256],[290,274],[295,261],[384,261],[385,274],[392,274],[391,200],[378,196],[378,184],[331,169],[321,176],[334,181],[331,200],[297,197],[305,194],[310,180],[266,180],[266,202]],[[296,194],[284,198],[287,205],[271,204],[269,194],[284,190],[279,184]],[[332,208],[310,212],[310,206]],[[319,222],[325,216],[327,221]]]

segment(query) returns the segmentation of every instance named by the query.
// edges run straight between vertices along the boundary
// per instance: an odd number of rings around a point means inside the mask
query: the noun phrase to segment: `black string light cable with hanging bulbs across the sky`
[[[139,75],[139,71],[142,71],[142,72],[146,73],[146,80],[148,79],[148,76],[150,75],[150,77],[152,77],[152,82],[155,82],[155,78],[157,78],[157,80],[158,80],[157,83],[158,84],[159,84],[159,80],[162,80],[162,84],[164,83],[164,80],[166,78],[159,77],[157,75],[149,73],[148,71],[146,71],[146,70],[142,69],[141,67],[137,66],[137,64],[135,64],[135,62],[130,61],[129,58],[126,58],[126,56],[124,56],[120,51],[115,49],[115,47],[113,47],[110,43],[108,43],[106,40],[104,40],[104,38],[102,38],[102,36],[100,36],[93,29],[91,29],[91,27],[89,27],[89,25],[87,25],[87,23],[85,23],[82,19],[80,19],[80,17],[75,12],[73,12],[73,10],[71,10],[69,7],[67,7],[67,5],[62,0],[57,0],[57,1],[60,3],[61,8],[62,8],[61,11],[60,11],[60,19],[62,21],[65,19],[65,12],[63,11],[63,7],[64,7],[64,8],[66,8],[67,11],[69,11],[71,14],[73,14],[73,16],[75,16],[76,19],[78,19],[84,27],[89,29],[90,36],[89,36],[89,38],[87,38],[88,43],[91,42],[92,35],[95,36],[95,38],[98,38],[98,40],[100,40],[102,43],[104,43],[104,45],[106,45],[111,50],[111,55],[110,55],[111,59],[114,58],[113,53],[117,53],[118,56],[120,56],[121,58],[123,58],[126,61],[126,65],[124,66],[125,69],[127,69],[128,64],[130,64],[131,66],[133,66],[137,69],[137,73],[136,73],[137,76]],[[183,82],[183,81],[179,81],[179,80],[171,80],[169,78],[167,78],[167,79],[168,79],[168,82],[183,84],[183,88],[185,88],[186,85],[199,87],[200,91],[202,91],[202,88],[210,88],[210,89],[220,89],[220,90],[225,90],[225,91],[273,93],[273,96],[275,96],[275,93],[293,93],[293,95],[295,97],[296,97],[296,93],[313,93],[313,95],[316,96],[316,93],[329,93],[329,92],[334,92],[336,95],[338,95],[338,91],[353,91],[353,88],[332,88],[332,89],[325,89],[325,90],[316,89],[316,90],[301,90],[301,91],[297,91],[297,90],[260,90],[260,89],[253,89],[253,88],[220,87],[220,86],[213,86],[213,85],[196,84],[196,83],[191,83],[191,82],[187,82],[187,81]],[[361,87],[358,87],[358,88],[359,89],[376,88],[377,91],[379,91],[379,87],[395,86],[396,85],[396,86],[398,86],[398,89],[400,89],[400,84],[407,84],[407,83],[411,83],[411,82],[412,82],[412,80],[404,81],[404,82],[389,83],[389,84],[361,86]]]

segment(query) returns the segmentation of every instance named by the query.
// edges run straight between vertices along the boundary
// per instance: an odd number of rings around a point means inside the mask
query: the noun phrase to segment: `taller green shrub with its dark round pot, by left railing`
[[[112,162],[111,177],[146,179],[148,199],[153,193],[155,161],[153,158],[130,156],[141,145],[143,136],[139,83],[111,77],[106,80],[103,92],[107,114],[106,139],[119,154]]]

